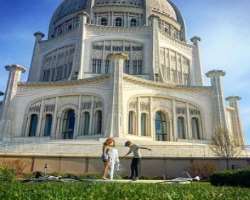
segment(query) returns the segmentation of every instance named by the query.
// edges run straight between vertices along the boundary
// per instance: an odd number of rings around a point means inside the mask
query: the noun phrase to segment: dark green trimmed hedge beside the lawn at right
[[[250,168],[214,173],[210,177],[210,182],[215,186],[250,187]]]

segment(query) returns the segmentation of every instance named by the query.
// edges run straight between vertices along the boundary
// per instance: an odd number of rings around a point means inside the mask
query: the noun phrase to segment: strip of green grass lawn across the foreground
[[[1,200],[250,200],[250,188],[118,183],[0,183]]]

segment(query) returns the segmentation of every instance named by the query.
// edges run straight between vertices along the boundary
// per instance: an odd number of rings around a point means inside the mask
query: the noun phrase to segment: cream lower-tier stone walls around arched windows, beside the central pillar
[[[88,80],[88,81],[87,81]],[[28,117],[32,112],[29,109],[38,105],[43,107],[49,104],[56,104],[56,117],[61,117],[63,108],[76,108],[76,128],[75,138],[78,138],[80,133],[78,118],[80,119],[79,102],[80,96],[84,101],[85,96],[96,96],[103,100],[103,135],[98,137],[108,137],[110,135],[110,119],[112,117],[112,76],[102,76],[99,78],[85,79],[71,82],[61,83],[35,83],[35,84],[20,84],[18,86],[17,95],[11,103],[12,110],[12,137],[27,137],[27,130],[29,126]],[[155,141],[155,113],[159,110],[166,111],[168,113],[168,121],[170,125],[169,129],[169,141],[182,142],[183,140],[178,138],[176,120],[178,114],[176,114],[177,108],[184,108],[186,111],[186,140],[185,142],[202,143],[209,140],[213,130],[213,102],[212,91],[210,87],[167,87],[161,83],[154,83],[146,81],[140,78],[134,78],[130,75],[124,75],[123,78],[123,128],[122,133],[119,133],[121,138],[132,139],[145,139],[145,141]],[[136,112],[140,116],[141,113],[147,112],[150,116],[148,124],[148,136],[140,136],[140,118],[137,117],[137,134],[128,134],[128,112],[129,103],[135,99]],[[42,103],[43,102],[43,103]],[[147,105],[150,103],[150,110]],[[143,104],[143,105],[142,105]],[[146,105],[146,107],[145,107]],[[118,105],[121,106],[121,105]],[[144,107],[143,107],[144,106]],[[192,124],[190,109],[195,109],[200,112],[198,118],[200,121],[201,138],[199,141],[192,137]],[[15,112],[18,110],[18,112]],[[38,115],[44,120],[44,113]],[[39,119],[37,137],[43,137],[44,121]],[[52,138],[58,138],[60,136],[60,121],[54,119],[53,123],[56,123],[56,127],[53,128]],[[116,132],[117,130],[114,130]],[[85,137],[86,138],[86,137]],[[87,138],[86,138],[87,139]]]

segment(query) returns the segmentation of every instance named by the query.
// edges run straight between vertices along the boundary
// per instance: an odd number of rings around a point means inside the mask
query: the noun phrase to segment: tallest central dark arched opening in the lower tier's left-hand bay
[[[75,111],[69,109],[63,114],[62,138],[73,139],[75,129]]]

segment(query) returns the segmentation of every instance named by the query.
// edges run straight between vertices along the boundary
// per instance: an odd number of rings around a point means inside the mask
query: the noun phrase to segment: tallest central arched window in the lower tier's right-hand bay
[[[167,122],[164,113],[157,112],[155,117],[155,133],[157,141],[167,141]]]

